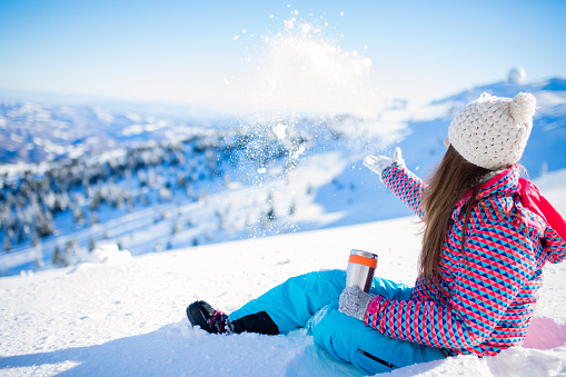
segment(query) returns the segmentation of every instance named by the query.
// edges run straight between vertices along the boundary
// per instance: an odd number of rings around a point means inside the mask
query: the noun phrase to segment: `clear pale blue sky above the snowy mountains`
[[[514,67],[528,81],[566,77],[566,1],[0,0],[0,89],[239,106],[246,78],[292,18],[355,53],[322,82],[369,59],[355,79],[380,98],[428,101]],[[279,83],[305,81],[294,72]]]

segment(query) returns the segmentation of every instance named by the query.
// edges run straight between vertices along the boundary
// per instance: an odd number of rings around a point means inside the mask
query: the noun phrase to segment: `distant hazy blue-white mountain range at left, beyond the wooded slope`
[[[185,117],[179,117],[175,107],[148,105],[141,109],[135,103],[129,107],[133,110],[119,111],[117,108],[121,107],[110,105],[63,106],[0,99],[0,161],[28,163],[73,159],[145,146],[149,140],[185,139],[201,135],[222,121],[197,117],[188,109]],[[151,110],[155,113],[148,112]],[[163,110],[169,115],[163,116]]]

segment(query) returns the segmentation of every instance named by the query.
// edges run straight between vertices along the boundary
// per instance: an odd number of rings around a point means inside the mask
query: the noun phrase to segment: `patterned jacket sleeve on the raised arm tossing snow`
[[[425,211],[420,205],[420,196],[426,188],[425,182],[410,172],[406,167],[391,165],[381,173],[381,179],[387,188],[407,205],[419,218],[424,218]]]

